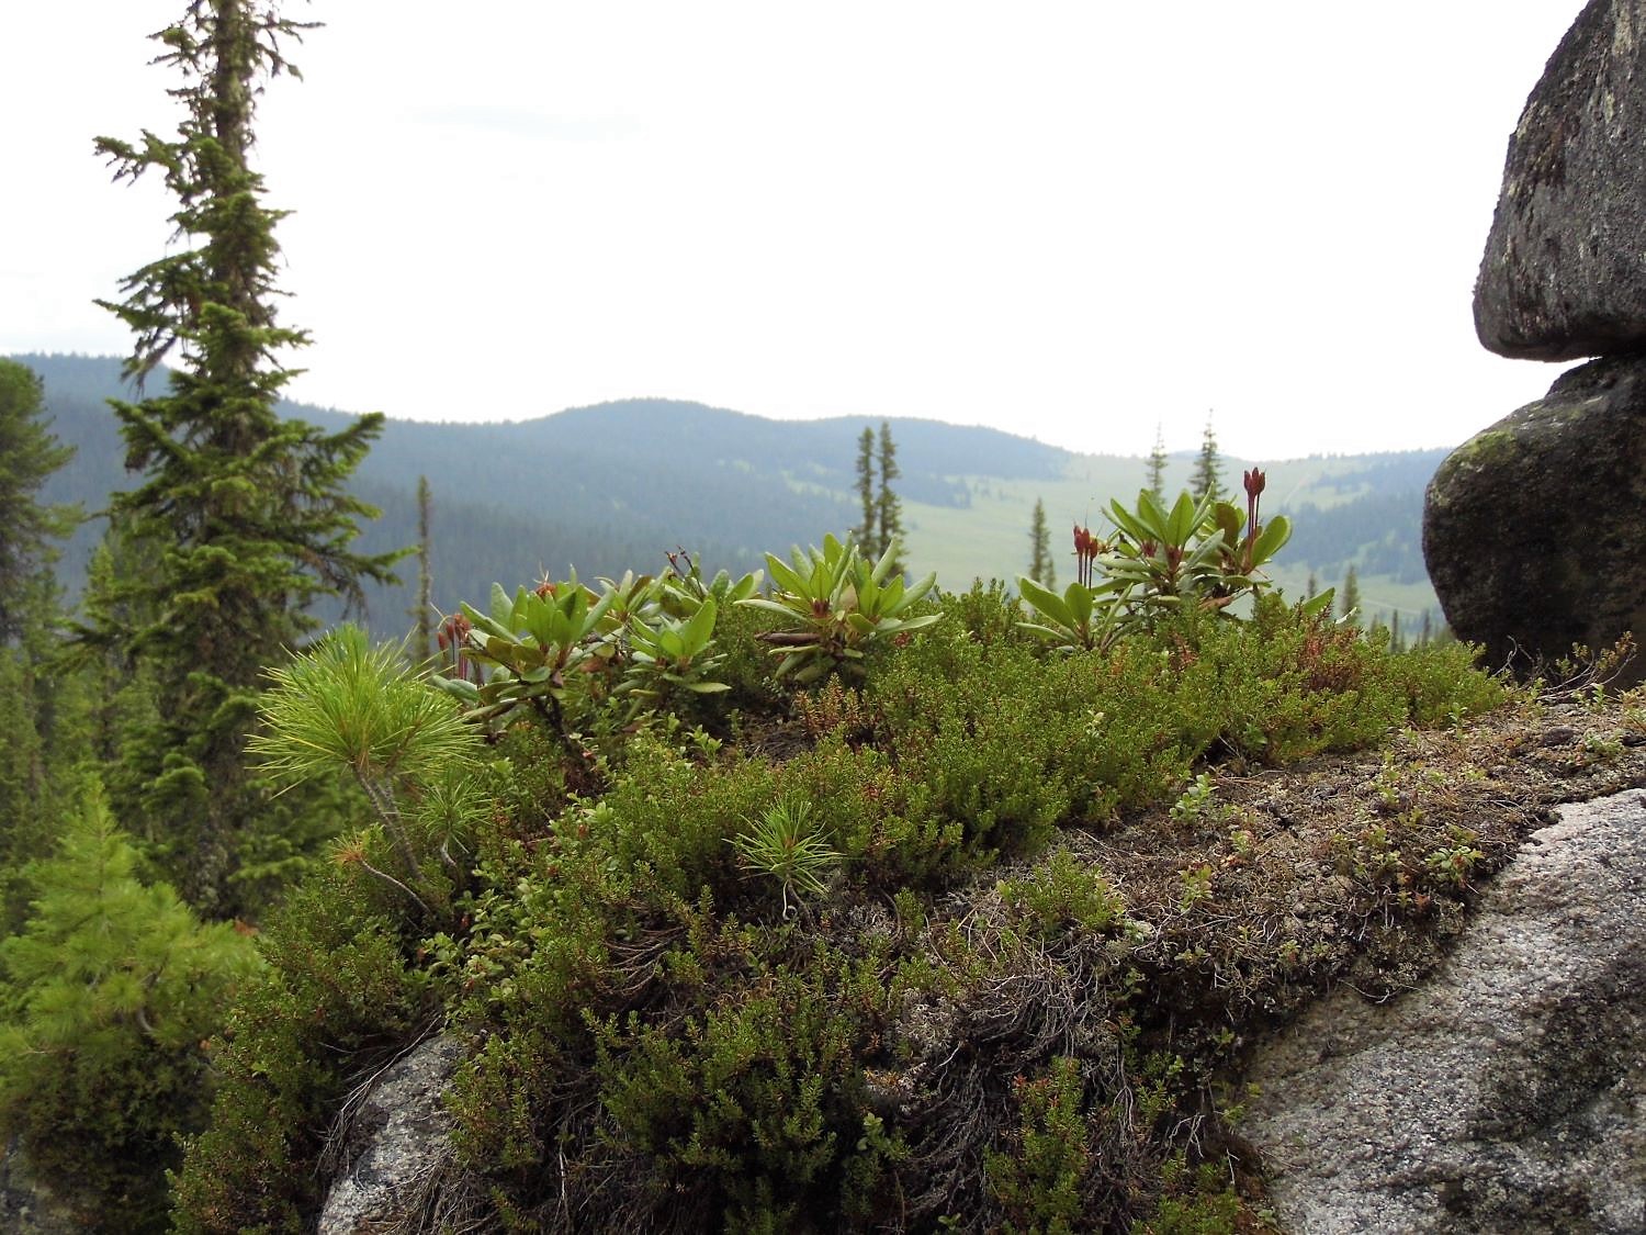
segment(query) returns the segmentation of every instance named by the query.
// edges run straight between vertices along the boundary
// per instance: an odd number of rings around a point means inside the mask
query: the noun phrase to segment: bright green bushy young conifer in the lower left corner
[[[97,1230],[163,1228],[165,1169],[207,1110],[199,1044],[260,963],[137,863],[91,785],[35,871],[28,925],[0,945],[0,1135]]]

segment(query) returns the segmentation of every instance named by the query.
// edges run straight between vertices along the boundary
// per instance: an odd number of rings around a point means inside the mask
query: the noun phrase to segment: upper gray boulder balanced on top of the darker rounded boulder
[[[1475,285],[1500,356],[1646,347],[1646,0],[1590,0],[1509,138]]]

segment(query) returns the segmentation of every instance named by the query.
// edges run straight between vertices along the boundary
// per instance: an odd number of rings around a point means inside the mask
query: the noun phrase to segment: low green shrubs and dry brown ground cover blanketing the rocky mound
[[[942,608],[853,680],[774,690],[734,622],[711,706],[517,720],[449,917],[346,868],[270,929],[181,1228],[300,1228],[326,1112],[438,1029],[448,1228],[1262,1230],[1243,1052],[1411,986],[1551,802],[1646,784],[1631,700],[1457,645]]]

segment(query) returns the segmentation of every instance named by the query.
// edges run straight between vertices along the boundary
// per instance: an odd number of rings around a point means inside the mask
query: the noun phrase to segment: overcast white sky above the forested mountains
[[[0,352],[125,354],[160,255],[145,35],[5,3]],[[1072,450],[1450,446],[1559,366],[1475,341],[1509,132],[1582,0],[286,0],[258,120],[314,334],[291,394],[418,420],[629,395]],[[640,445],[640,443],[637,443]]]

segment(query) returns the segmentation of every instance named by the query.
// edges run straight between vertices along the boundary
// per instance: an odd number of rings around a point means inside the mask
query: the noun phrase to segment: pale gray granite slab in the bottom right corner
[[[1646,1230],[1646,794],[1564,807],[1422,988],[1338,990],[1241,1125],[1297,1235]]]

